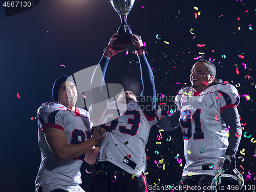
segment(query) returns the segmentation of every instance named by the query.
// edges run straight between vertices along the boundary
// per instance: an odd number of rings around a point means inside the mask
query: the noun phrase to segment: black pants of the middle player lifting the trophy
[[[146,178],[127,172],[100,172],[91,181],[89,192],[147,192]]]

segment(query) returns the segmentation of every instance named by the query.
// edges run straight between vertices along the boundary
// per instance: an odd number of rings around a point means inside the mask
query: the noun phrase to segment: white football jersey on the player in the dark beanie
[[[46,102],[37,111],[41,163],[35,181],[36,192],[39,186],[44,192],[54,189],[84,191],[79,184],[82,183],[80,167],[85,154],[74,159],[58,161],[51,153],[44,134],[47,127],[54,127],[65,132],[68,144],[79,144],[90,139],[92,123],[89,113],[81,108],[75,109],[73,112],[65,105]]]

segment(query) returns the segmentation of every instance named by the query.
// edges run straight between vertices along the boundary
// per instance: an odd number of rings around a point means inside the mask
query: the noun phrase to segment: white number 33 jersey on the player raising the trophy
[[[117,105],[120,109],[120,103]],[[113,117],[117,113],[115,102],[108,103],[107,109],[100,117],[101,122],[108,122],[105,126],[110,131],[105,133],[105,139],[100,143],[97,163],[109,161],[139,177],[146,169],[145,145],[148,135],[157,118],[161,116],[161,110],[156,111],[155,117],[148,117],[138,102],[124,105],[127,110],[119,110],[119,118]],[[126,109],[126,106],[121,109]]]

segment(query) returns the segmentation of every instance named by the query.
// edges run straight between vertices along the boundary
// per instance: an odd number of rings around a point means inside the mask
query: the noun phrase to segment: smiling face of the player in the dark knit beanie
[[[73,108],[77,101],[77,91],[76,86],[71,81],[66,81],[61,84],[58,91],[58,102],[67,106],[68,108]]]

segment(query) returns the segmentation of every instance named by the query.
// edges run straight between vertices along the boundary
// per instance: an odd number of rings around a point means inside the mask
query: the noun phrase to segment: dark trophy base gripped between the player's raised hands
[[[112,44],[113,49],[124,49],[129,51],[135,50],[135,45],[133,44],[132,34],[118,35],[116,40]]]

